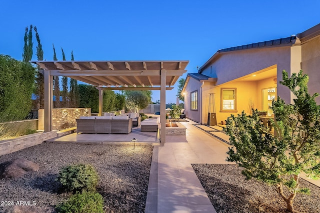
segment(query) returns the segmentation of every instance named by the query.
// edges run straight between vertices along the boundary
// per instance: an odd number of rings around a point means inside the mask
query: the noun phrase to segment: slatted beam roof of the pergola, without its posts
[[[111,90],[159,90],[166,70],[166,90],[186,72],[189,61],[31,61],[51,76],[67,76]]]

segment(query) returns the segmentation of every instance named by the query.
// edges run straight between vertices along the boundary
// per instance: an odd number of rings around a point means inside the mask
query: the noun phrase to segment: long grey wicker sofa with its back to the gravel
[[[79,133],[120,133],[132,131],[132,118],[128,116],[84,116],[76,119],[76,132]]]

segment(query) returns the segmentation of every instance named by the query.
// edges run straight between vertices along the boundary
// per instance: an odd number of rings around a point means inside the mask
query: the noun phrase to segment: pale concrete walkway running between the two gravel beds
[[[187,142],[166,138],[154,147],[146,213],[215,213],[191,164],[225,164],[227,145],[183,122]]]

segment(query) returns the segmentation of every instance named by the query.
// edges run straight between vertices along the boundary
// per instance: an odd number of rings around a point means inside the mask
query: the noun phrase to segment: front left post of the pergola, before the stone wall
[[[52,76],[49,70],[43,70],[44,80],[44,132],[52,131]]]

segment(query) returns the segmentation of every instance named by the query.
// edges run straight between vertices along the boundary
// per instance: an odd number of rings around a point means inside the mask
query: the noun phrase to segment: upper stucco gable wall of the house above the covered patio
[[[296,53],[292,54],[292,49],[297,50],[298,48],[298,46],[276,46],[220,53],[218,58],[214,60],[214,63],[209,64],[202,71],[202,74],[208,76],[216,75],[216,85],[220,85],[266,67],[276,65],[276,77],[278,81],[280,81],[282,79],[282,70],[286,70],[289,74],[292,72],[296,73],[300,70],[300,67],[297,66],[299,63],[295,63],[293,66],[291,64],[291,60],[296,61],[296,58],[298,58]],[[290,103],[290,91],[279,83],[277,83],[277,88],[278,95],[284,99],[285,102]]]

